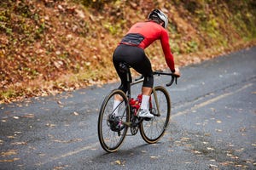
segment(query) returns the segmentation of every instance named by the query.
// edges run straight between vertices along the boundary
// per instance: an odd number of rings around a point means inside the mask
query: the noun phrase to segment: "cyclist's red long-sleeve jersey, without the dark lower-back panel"
[[[139,42],[137,45],[139,48],[147,48],[152,42],[160,39],[161,46],[166,58],[166,64],[171,69],[175,71],[174,59],[172,56],[168,32],[165,28],[155,23],[154,21],[138,22],[137,24],[131,26],[131,29],[127,32],[129,34],[138,34],[143,37],[143,41]]]

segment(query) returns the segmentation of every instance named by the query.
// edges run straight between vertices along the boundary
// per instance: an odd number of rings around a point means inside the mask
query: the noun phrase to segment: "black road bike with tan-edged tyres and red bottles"
[[[137,99],[131,98],[131,86],[143,82],[143,77],[132,82],[130,66],[120,63],[119,69],[126,73],[128,91],[125,94],[120,89],[113,89],[103,100],[98,117],[98,138],[102,148],[107,152],[119,150],[125,136],[136,135],[138,131],[148,144],[158,142],[164,135],[171,116],[171,99],[163,86],[154,87],[149,98],[149,111],[154,117],[137,116],[142,94],[139,94]],[[174,81],[177,83],[177,77],[172,73],[154,71],[154,75],[171,76],[171,82],[166,84],[167,87],[171,86]],[[116,108],[113,108],[113,100],[116,95],[122,101]],[[117,109],[118,116],[114,114]],[[130,133],[127,134],[129,128]]]

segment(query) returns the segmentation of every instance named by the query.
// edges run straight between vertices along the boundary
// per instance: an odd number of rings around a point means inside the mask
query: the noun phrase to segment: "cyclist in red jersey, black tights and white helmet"
[[[168,32],[166,31],[167,25],[168,19],[166,14],[160,11],[160,9],[154,9],[148,14],[147,21],[138,22],[131,26],[113,53],[113,65],[121,79],[119,89],[125,93],[127,92],[126,73],[119,71],[119,64],[122,62],[130,65],[144,77],[142,88],[143,99],[137,116],[154,117],[148,110],[148,100],[154,85],[154,77],[150,60],[144,53],[144,48],[147,48],[155,40],[160,39],[166,64],[172,73],[180,77],[179,71],[175,70]],[[113,102],[113,108],[116,108],[121,100],[119,96],[116,96]],[[115,114],[118,116],[118,109],[115,110]]]

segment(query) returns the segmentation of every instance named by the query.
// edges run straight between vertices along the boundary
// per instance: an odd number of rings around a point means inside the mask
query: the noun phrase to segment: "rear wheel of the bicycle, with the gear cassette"
[[[114,116],[113,114],[113,100],[115,95],[119,95],[123,99],[117,106],[119,116]],[[125,139],[128,126],[121,124],[119,120],[130,122],[130,105],[125,93],[119,89],[115,89],[104,99],[98,117],[98,138],[102,148],[108,152],[118,150]]]

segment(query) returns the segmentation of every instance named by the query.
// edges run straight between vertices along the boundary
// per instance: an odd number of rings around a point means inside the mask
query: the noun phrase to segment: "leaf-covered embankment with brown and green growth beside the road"
[[[114,48],[153,8],[169,16],[177,65],[255,45],[253,0],[105,2],[1,1],[0,103],[115,81]],[[159,42],[146,52],[154,68],[166,68]]]

